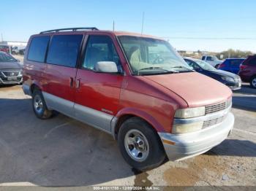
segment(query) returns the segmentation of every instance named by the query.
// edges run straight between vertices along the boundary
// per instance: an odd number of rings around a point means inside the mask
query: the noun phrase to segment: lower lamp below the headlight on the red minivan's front
[[[188,124],[174,124],[172,128],[173,134],[191,133],[203,128],[203,121],[192,122]]]

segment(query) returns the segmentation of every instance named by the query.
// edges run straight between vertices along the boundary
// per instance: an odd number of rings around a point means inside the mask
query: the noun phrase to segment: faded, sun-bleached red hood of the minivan
[[[189,107],[217,104],[232,96],[232,91],[226,85],[197,72],[144,77],[176,93]]]

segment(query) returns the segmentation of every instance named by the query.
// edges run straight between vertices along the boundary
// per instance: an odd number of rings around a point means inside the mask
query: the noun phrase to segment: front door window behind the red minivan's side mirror
[[[115,46],[109,36],[89,36],[86,45],[86,54],[83,61],[83,69],[94,70],[99,61],[111,61],[116,63],[118,71],[121,72],[121,61]]]

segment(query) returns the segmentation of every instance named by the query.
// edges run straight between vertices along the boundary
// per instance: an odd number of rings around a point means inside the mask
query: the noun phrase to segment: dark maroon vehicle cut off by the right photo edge
[[[244,82],[249,82],[251,87],[256,88],[256,55],[249,55],[241,63],[238,74]]]

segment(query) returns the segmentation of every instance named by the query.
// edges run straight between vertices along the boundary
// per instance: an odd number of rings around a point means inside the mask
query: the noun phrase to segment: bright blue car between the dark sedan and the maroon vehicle
[[[244,60],[245,58],[227,58],[223,63],[219,64],[218,69],[238,74],[239,66]]]

